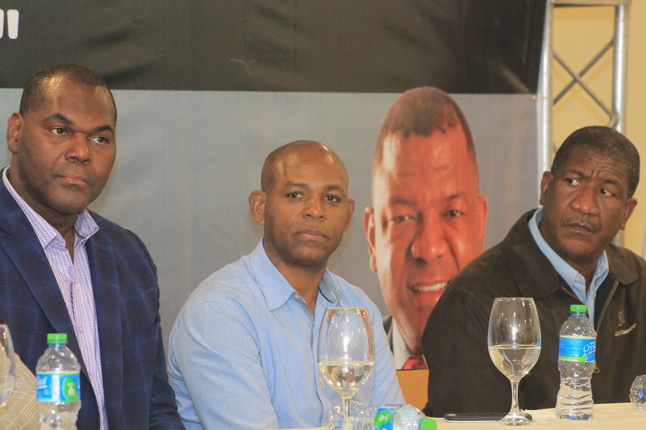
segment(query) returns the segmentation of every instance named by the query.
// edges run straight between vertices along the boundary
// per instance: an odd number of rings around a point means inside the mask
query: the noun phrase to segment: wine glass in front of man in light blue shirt
[[[328,307],[318,333],[318,367],[343,401],[342,430],[351,430],[349,400],[375,364],[372,323],[365,307]]]

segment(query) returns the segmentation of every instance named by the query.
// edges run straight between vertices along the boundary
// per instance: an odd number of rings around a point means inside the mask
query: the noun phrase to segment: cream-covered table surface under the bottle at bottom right
[[[646,429],[646,411],[636,410],[630,403],[609,403],[594,405],[594,418],[592,421],[557,420],[554,408],[527,411],[536,421],[536,425],[523,427],[528,430],[541,428],[568,428],[576,430],[588,429],[617,429],[617,430],[643,430]],[[495,430],[512,429],[519,427],[503,427],[492,422],[448,422],[437,419],[439,430]]]

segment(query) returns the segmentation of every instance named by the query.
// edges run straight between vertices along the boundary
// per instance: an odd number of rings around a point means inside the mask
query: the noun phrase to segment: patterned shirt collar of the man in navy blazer
[[[11,166],[7,166],[2,172],[3,183],[9,191],[9,194],[11,194],[14,200],[16,200],[16,203],[18,203],[18,206],[23,210],[27,220],[29,220],[29,223],[34,228],[34,232],[36,232],[36,237],[41,243],[41,246],[45,248],[52,242],[52,240],[54,240],[54,238],[61,235],[58,230],[54,229],[54,227],[52,227],[45,218],[40,216],[36,210],[32,209],[32,207],[30,207],[30,205],[28,205],[27,202],[16,192],[16,189],[11,185],[7,176],[10,168]],[[41,228],[36,228],[37,226],[40,226]],[[81,241],[89,239],[90,236],[98,232],[98,230],[99,226],[96,224],[87,209],[83,209],[83,212],[76,216],[76,220],[74,221],[74,234],[75,236],[78,236]]]

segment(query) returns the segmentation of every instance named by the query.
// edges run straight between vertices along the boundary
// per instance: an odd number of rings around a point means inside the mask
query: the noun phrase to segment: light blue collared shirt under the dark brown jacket
[[[582,274],[577,272],[574,267],[570,266],[568,263],[559,257],[559,255],[554,252],[552,247],[547,244],[540,230],[538,229],[538,223],[541,222],[541,217],[543,216],[543,208],[540,208],[534,212],[534,216],[529,220],[529,230],[532,232],[532,236],[536,241],[539,249],[545,254],[554,270],[561,275],[561,278],[567,282],[567,285],[570,285],[574,294],[581,300],[581,303],[585,303],[588,308],[588,314],[590,316],[590,321],[594,324],[594,299],[597,296],[597,290],[599,285],[605,280],[608,276],[608,258],[605,254],[605,251],[599,257],[597,261],[597,267],[594,269],[594,275],[592,276],[592,282],[590,283],[590,289],[585,291],[585,278]]]

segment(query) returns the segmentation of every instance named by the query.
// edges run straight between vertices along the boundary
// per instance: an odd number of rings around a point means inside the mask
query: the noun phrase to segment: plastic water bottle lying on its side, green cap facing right
[[[425,416],[413,405],[368,406],[350,402],[349,422],[353,430],[435,430],[435,419]],[[329,416],[329,429],[340,430],[342,408],[334,407]]]

